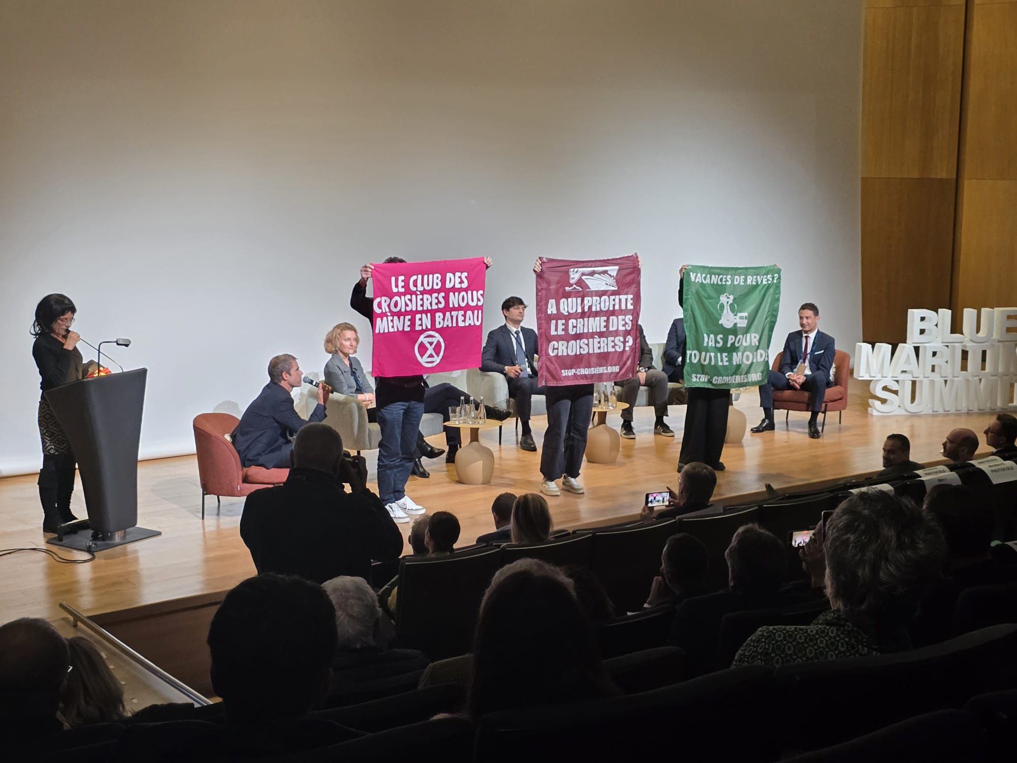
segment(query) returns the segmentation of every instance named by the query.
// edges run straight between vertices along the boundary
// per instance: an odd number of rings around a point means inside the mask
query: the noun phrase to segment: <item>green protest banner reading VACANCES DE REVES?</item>
[[[764,384],[780,307],[780,269],[690,266],[681,286],[685,387]]]

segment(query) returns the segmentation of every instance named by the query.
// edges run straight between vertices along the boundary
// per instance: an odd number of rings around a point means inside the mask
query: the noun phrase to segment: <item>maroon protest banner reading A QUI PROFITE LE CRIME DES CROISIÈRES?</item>
[[[561,387],[635,376],[641,304],[639,257],[541,257],[540,262],[539,383]]]

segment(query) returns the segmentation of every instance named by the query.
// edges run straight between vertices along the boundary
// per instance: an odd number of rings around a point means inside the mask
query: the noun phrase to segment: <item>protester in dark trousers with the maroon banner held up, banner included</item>
[[[546,386],[547,430],[540,454],[545,495],[585,492],[579,481],[593,413],[593,385],[633,376],[639,361],[640,263],[548,259],[537,274],[537,372]]]

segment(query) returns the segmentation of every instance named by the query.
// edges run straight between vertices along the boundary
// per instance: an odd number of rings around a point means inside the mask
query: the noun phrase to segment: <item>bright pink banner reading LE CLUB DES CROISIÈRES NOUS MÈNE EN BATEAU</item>
[[[375,265],[375,376],[480,366],[483,257]]]

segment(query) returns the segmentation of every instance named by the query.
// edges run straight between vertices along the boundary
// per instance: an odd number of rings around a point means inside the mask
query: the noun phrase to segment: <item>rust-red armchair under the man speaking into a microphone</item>
[[[204,519],[204,496],[239,498],[262,487],[282,484],[290,476],[289,469],[264,469],[251,466],[243,469],[240,456],[226,435],[237,428],[240,419],[229,413],[199,413],[194,417],[194,448],[197,451],[197,473],[201,482],[201,519]]]

